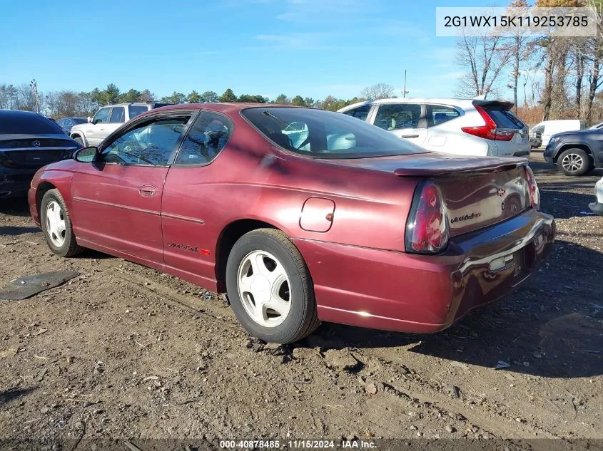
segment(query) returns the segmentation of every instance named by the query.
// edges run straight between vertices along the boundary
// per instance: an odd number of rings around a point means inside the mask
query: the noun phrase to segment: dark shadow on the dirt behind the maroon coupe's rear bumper
[[[505,299],[440,333],[417,335],[325,323],[326,348],[393,348],[485,368],[551,378],[603,374],[603,254],[556,242],[549,266]],[[591,279],[585,279],[592,274]],[[313,338],[309,338],[310,341]],[[400,351],[403,352],[403,351]],[[400,355],[398,355],[400,357]]]

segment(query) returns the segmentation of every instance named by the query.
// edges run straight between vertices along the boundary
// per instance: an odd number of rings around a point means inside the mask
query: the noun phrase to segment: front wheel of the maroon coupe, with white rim
[[[75,256],[83,251],[76,242],[69,212],[59,190],[48,190],[42,197],[40,219],[46,244],[54,254]]]

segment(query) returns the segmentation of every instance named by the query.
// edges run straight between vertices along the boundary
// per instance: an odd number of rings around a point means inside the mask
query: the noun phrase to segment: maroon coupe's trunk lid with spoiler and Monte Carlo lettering
[[[451,237],[505,221],[530,207],[524,158],[430,152],[329,161],[432,180],[442,192]]]

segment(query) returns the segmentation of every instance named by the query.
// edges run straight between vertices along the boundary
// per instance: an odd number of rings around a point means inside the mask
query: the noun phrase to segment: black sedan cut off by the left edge
[[[0,197],[24,196],[40,167],[71,158],[80,146],[38,113],[0,110]]]

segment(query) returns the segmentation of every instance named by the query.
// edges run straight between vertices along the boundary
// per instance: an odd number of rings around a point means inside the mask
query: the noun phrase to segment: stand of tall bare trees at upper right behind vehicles
[[[497,98],[512,93],[515,109],[527,123],[539,120],[603,120],[603,0],[537,0],[537,7],[587,7],[597,36],[459,36],[456,63],[465,72],[455,94]],[[525,0],[510,10],[529,9]],[[523,101],[518,102],[518,93]]]

